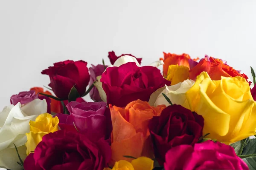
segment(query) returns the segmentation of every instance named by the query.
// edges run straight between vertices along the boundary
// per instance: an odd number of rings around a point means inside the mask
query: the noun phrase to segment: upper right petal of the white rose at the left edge
[[[21,107],[21,110],[26,114],[26,115],[40,115],[43,113],[47,112],[47,102],[46,100],[40,100],[40,99],[35,99],[28,104],[24,105]]]

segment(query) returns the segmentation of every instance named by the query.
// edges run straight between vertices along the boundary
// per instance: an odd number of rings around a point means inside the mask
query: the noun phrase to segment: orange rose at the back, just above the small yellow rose
[[[182,55],[171,54],[163,52],[163,57],[160,60],[163,60],[163,76],[167,75],[169,65],[179,65],[189,67],[189,60],[192,60],[188,54],[183,53]],[[197,61],[199,58],[193,59]]]

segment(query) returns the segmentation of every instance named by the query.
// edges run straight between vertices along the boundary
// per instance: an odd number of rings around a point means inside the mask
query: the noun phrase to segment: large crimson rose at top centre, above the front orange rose
[[[108,104],[125,107],[138,99],[149,101],[150,95],[165,84],[170,85],[154,66],[138,67],[134,62],[109,67],[100,79]]]

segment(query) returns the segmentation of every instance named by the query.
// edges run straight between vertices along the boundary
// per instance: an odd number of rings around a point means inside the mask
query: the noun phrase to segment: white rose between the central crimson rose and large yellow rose
[[[160,104],[165,104],[166,106],[170,105],[168,101],[166,101],[166,99],[164,98],[162,94],[164,93],[170,99],[172,104],[179,104],[189,109],[189,104],[186,99],[185,93],[194,85],[194,83],[195,81],[193,80],[185,80],[172,86],[166,86],[166,88],[163,89],[163,91],[161,91],[160,94],[157,96],[157,99],[154,102],[154,106],[158,106]]]

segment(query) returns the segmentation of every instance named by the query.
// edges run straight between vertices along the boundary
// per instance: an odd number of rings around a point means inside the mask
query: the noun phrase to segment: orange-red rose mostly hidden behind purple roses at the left
[[[33,87],[31,88],[30,90],[34,90],[35,91],[35,94],[38,94],[38,93],[44,93],[46,95],[52,95],[51,92],[49,91],[44,91],[43,88],[41,87]],[[39,96],[41,96],[41,94],[39,94]],[[60,101],[56,101],[54,99],[52,99],[52,102],[51,102],[51,111],[52,112],[55,112],[55,113],[61,113],[62,112],[62,105],[61,105],[61,102]]]

